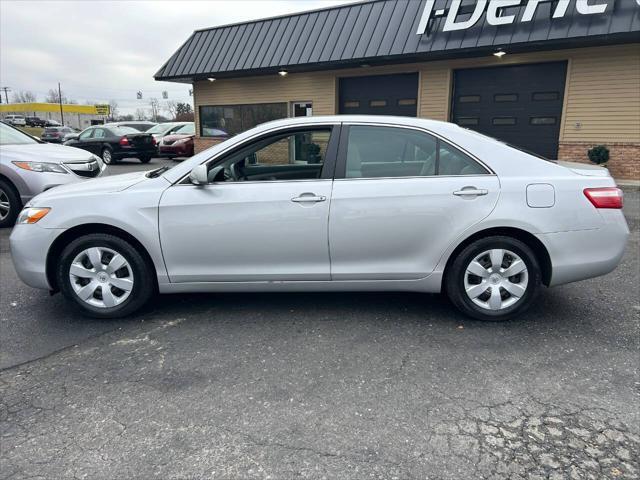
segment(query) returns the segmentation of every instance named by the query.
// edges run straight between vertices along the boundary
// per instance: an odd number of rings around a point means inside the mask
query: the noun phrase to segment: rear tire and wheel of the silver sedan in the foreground
[[[525,312],[541,285],[533,250],[506,236],[482,238],[466,246],[453,259],[444,281],[447,296],[461,312],[494,322]]]

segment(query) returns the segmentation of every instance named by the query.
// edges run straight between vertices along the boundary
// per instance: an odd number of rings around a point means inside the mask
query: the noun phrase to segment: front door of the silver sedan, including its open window
[[[171,281],[329,280],[333,130],[270,134],[211,161],[208,185],[169,188],[160,240]],[[304,158],[298,136],[315,145]]]

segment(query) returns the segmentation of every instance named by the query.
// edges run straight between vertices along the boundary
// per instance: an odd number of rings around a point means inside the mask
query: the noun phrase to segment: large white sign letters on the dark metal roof
[[[483,15],[487,16],[487,23],[489,25],[511,25],[513,23],[526,23],[533,20],[536,9],[541,3],[546,3],[551,0],[478,0],[470,8],[471,16],[466,20],[458,20],[460,14],[464,14],[467,11],[461,11],[465,7],[462,7],[462,0],[452,0],[450,8],[434,10],[435,0],[427,0],[422,17],[420,18],[420,24],[418,25],[418,35],[423,35],[427,31],[429,21],[433,18],[446,17],[444,27],[442,31],[451,32],[455,30],[467,30],[473,27]],[[563,18],[567,13],[569,5],[572,1],[575,1],[576,11],[581,15],[595,15],[606,12],[607,7],[611,0],[557,0],[553,2],[555,9],[553,10],[552,18]],[[639,1],[640,0],[636,0]],[[519,7],[526,5],[522,18],[516,19],[516,15],[505,14],[504,9],[509,7]]]

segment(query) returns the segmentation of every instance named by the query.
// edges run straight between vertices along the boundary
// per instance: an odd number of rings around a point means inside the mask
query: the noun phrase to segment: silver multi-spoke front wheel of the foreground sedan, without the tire
[[[94,307],[111,308],[122,304],[133,290],[133,270],[118,252],[91,247],[71,262],[69,280],[83,302]]]

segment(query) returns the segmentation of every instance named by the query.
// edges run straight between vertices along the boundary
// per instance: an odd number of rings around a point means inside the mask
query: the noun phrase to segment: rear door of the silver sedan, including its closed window
[[[489,215],[499,182],[485,166],[428,132],[344,126],[331,200],[333,280],[410,280]]]

